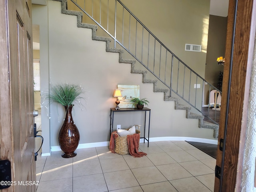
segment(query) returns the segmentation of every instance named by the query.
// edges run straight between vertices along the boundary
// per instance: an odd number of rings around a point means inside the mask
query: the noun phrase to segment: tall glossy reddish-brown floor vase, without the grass
[[[80,140],[80,134],[78,128],[74,124],[72,118],[72,106],[64,106],[66,111],[66,117],[59,133],[59,145],[64,152],[61,156],[63,158],[71,158],[76,156],[74,152],[78,146]]]

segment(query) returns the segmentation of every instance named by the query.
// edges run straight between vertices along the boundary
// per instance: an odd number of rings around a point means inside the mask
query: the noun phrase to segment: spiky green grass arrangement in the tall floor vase
[[[51,102],[57,102],[63,106],[70,106],[79,100],[84,99],[82,86],[76,84],[56,84],[50,86],[50,93],[46,95]]]

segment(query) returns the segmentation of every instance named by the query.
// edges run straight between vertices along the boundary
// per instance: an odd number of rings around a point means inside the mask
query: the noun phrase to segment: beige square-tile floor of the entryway
[[[40,115],[35,118],[40,130]],[[38,132],[40,134],[40,132]],[[36,138],[36,148],[40,147]],[[111,153],[108,147],[62,152],[36,161],[37,192],[213,192],[216,160],[185,141],[140,143],[147,156]]]

